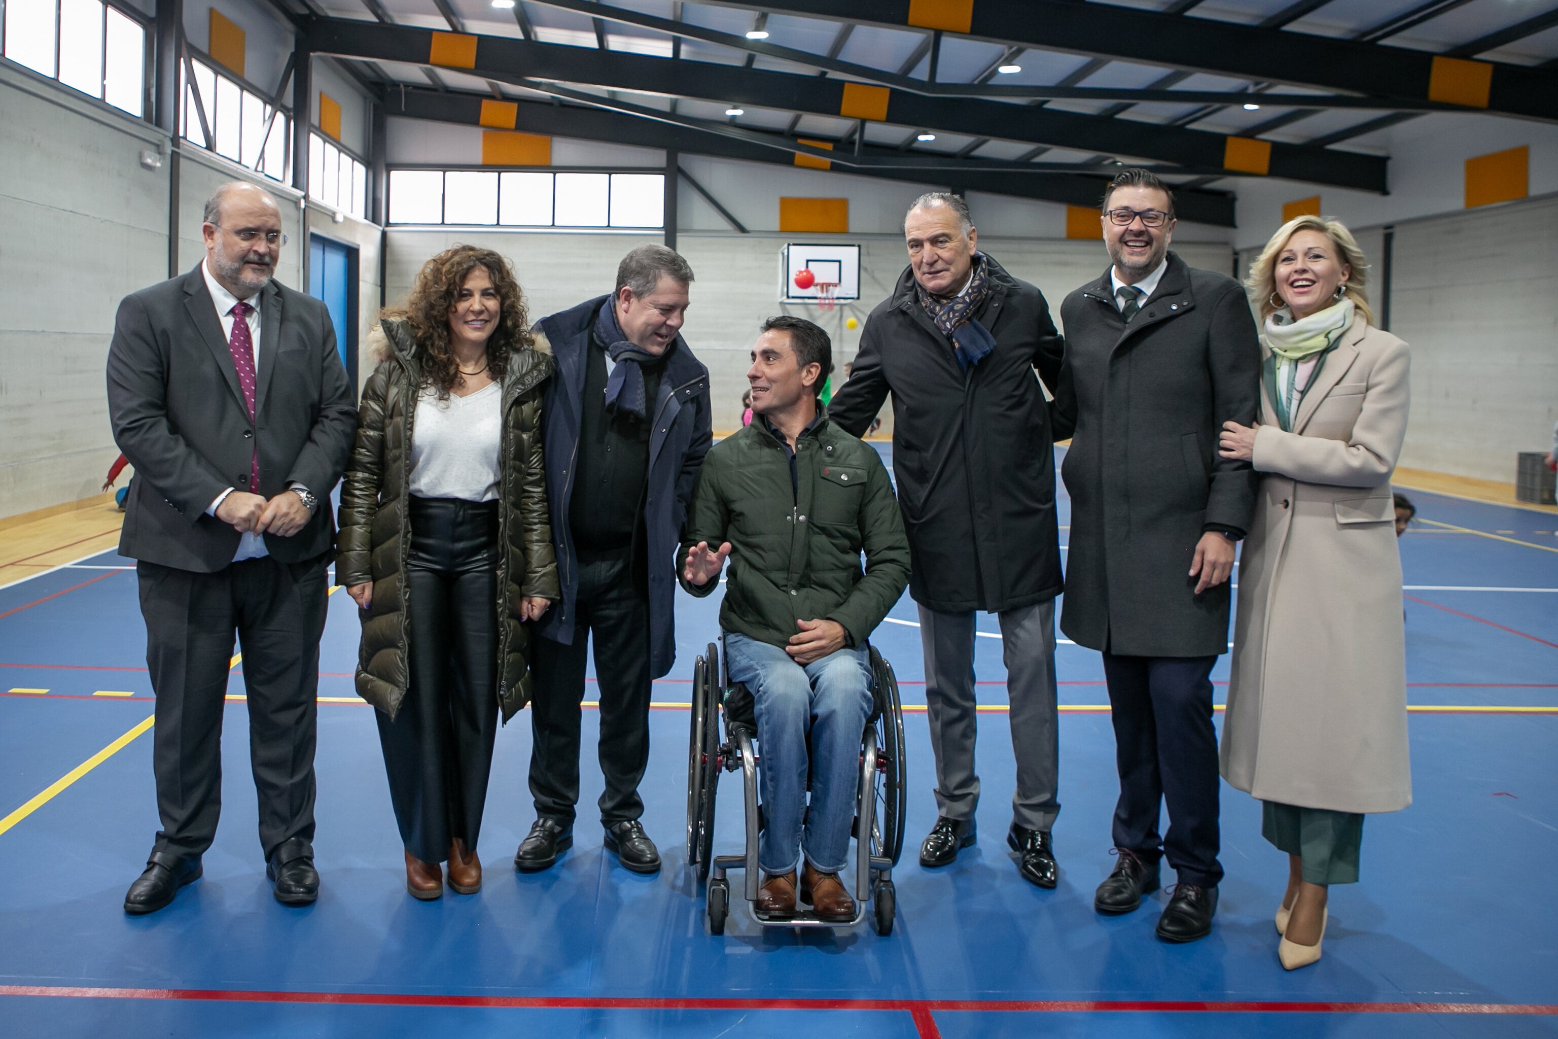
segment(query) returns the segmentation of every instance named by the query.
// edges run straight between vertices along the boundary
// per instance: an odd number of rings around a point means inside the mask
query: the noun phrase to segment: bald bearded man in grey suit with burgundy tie
[[[217,188],[206,259],[126,296],[109,346],[114,439],[136,467],[120,553],[137,561],[162,818],[126,913],[171,902],[217,835],[234,632],[266,875],[288,905],[319,893],[315,693],[333,541],[321,505],[357,408],[324,304],[273,280],[280,227],[268,192]]]

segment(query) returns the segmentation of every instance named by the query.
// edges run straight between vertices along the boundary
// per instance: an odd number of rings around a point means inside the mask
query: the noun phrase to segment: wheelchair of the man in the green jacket
[[[855,927],[865,919],[869,902],[877,935],[893,933],[897,908],[893,868],[904,851],[904,707],[893,665],[876,651],[876,646],[871,646],[871,717],[860,740],[860,785],[851,830],[855,838],[855,916],[851,921],[832,922],[798,908],[793,917],[763,919],[751,910],[760,883],[757,840],[763,826],[757,799],[757,770],[762,755],[753,749],[754,743],[762,743],[762,734],[757,732],[753,696],[746,685],[729,682],[718,645],[710,642],[707,651],[693,664],[687,748],[687,865],[696,868],[698,880],[706,883],[710,933],[724,933],[724,921],[731,911],[731,885],[726,872],[731,869],[746,871],[742,897],[746,900],[748,916],[763,927]],[[714,808],[720,774],[735,771],[742,773],[746,849],[740,855],[715,855]],[[810,790],[810,782],[807,788]]]

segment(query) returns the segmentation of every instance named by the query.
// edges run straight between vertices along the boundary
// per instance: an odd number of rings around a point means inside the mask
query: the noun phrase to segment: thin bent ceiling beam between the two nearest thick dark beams
[[[1073,2],[1073,0],[1070,0]],[[743,51],[749,55],[759,55],[765,58],[777,58],[781,61],[790,61],[801,65],[812,65],[824,72],[832,72],[849,79],[860,79],[863,83],[876,83],[880,86],[893,87],[896,90],[907,90],[910,93],[924,93],[932,97],[958,97],[958,98],[994,98],[1006,101],[1131,101],[1136,104],[1147,104],[1154,101],[1164,101],[1170,104],[1235,104],[1242,100],[1242,92],[1237,90],[1162,90],[1162,89],[1137,89],[1137,87],[1078,87],[1073,86],[1070,76],[1061,79],[1050,86],[991,86],[980,83],[932,83],[929,79],[915,79],[908,75],[913,67],[924,58],[924,53],[916,50],[915,55],[904,64],[904,70],[887,70],[874,69],[871,65],[857,65],[852,62],[840,61],[837,53],[818,55],[809,50],[796,50],[793,47],[781,47],[777,44],[770,44],[767,41],[749,41],[745,36],[734,33],[721,33],[718,30],[709,30],[698,25],[689,25],[686,22],[662,19],[654,14],[643,14],[640,11],[629,11],[626,8],[611,8],[600,6],[595,0],[531,0],[547,8],[558,8],[559,11],[573,11],[576,14],[586,14],[590,17],[603,17],[611,22],[622,22],[623,25],[636,25],[639,28],[656,30],[667,33],[673,39],[696,39],[706,44],[717,44],[720,47],[728,47],[735,51]],[[1190,19],[1184,19],[1190,20]],[[1209,25],[1218,25],[1217,22],[1207,22]],[[852,25],[852,23],[846,23]],[[929,47],[932,34],[925,34],[925,41],[921,44]],[[837,41],[835,41],[837,42]],[[1091,62],[1089,62],[1091,64]],[[1108,64],[1108,59],[1100,59],[1097,67]],[[1181,76],[1184,78],[1184,76]],[[1426,98],[1384,98],[1384,97],[1360,97],[1357,93],[1345,93],[1334,97],[1320,97],[1312,93],[1302,95],[1273,95],[1271,104],[1327,104],[1331,107],[1362,107],[1362,109],[1407,109],[1407,111],[1435,111],[1435,109],[1452,109],[1461,111],[1457,106],[1440,104],[1436,101],[1429,101]]]

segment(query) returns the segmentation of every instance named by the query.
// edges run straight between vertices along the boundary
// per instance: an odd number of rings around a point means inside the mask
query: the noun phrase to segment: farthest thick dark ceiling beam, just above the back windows
[[[480,93],[439,93],[422,87],[407,87],[405,90],[391,90],[385,98],[385,107],[390,115],[475,126],[481,120],[483,97]],[[603,109],[553,107],[538,101],[514,101],[514,104],[519,106],[516,128],[536,134],[601,140],[639,148],[665,148],[681,154],[793,167],[793,159],[785,157],[785,153],[779,146],[771,146],[760,140],[714,136],[687,126],[634,118],[633,115]],[[767,136],[774,139],[776,143],[782,140],[779,134],[760,134],[757,131],[748,131],[748,134],[759,139]],[[865,153],[866,157],[883,157],[883,153],[897,154],[891,148],[872,146],[868,146]],[[840,171],[910,184],[957,184],[975,192],[1013,195],[1072,206],[1097,206],[1098,198],[1103,195],[1103,187],[1108,184],[1108,178],[1103,174],[1016,173],[978,167],[980,164],[944,159],[935,170],[918,165],[915,168],[858,167]],[[1223,192],[1192,190],[1178,193],[1176,209],[1178,215],[1184,220],[1221,227],[1234,226],[1234,198]]]

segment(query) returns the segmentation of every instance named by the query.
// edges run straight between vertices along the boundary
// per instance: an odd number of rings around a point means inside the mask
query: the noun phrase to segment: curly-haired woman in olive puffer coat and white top
[[[481,888],[477,836],[502,712],[530,699],[530,626],[559,595],[536,349],[508,263],[471,246],[422,268],[375,333],[341,484],[335,579],[361,609],[357,692],[377,707],[418,899]]]

